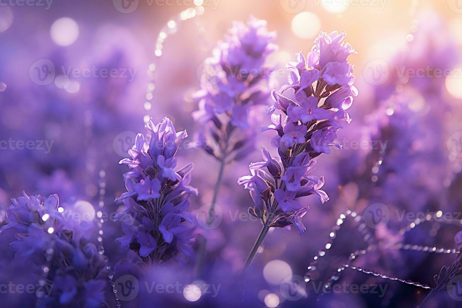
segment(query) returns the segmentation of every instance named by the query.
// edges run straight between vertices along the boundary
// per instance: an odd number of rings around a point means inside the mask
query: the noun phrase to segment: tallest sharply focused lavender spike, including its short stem
[[[263,162],[251,163],[250,172],[237,181],[249,189],[255,205],[249,213],[263,224],[244,271],[271,227],[294,225],[300,235],[305,231],[301,218],[309,206],[300,203],[300,197],[316,195],[322,203],[328,195],[322,190],[324,177],[310,175],[315,168],[313,159],[329,154],[331,147],[341,148],[336,142],[342,124],[351,121],[346,109],[353,103],[353,66],[347,57],[355,54],[350,44],[344,43],[346,34],[336,31],[321,32],[315,46],[305,58],[296,54],[297,61],[288,62],[288,85],[279,92],[273,90],[274,105],[267,109],[272,125],[261,131],[275,130],[271,144],[278,148],[280,163],[263,148]],[[290,99],[286,92],[293,91]],[[280,114],[274,112],[279,110]]]

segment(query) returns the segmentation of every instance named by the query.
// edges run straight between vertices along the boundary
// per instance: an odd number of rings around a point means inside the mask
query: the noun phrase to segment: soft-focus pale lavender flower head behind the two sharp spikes
[[[214,49],[214,57],[204,62],[201,90],[194,95],[199,110],[193,118],[204,126],[200,140],[206,151],[219,160],[231,154],[230,161],[242,159],[253,145],[251,108],[269,100],[267,82],[273,69],[264,63],[276,50],[275,37],[267,31],[266,21],[251,16],[247,25],[234,22],[225,42]],[[242,133],[230,140],[236,128]],[[206,140],[216,140],[220,146],[213,147]]]

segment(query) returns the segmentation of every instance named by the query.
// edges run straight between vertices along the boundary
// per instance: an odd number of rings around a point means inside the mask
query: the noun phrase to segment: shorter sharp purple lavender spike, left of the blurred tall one
[[[193,165],[175,171],[176,151],[186,131],[176,132],[165,117],[154,125],[146,124],[146,138],[139,133],[135,144],[121,164],[133,168],[126,173],[127,192],[116,201],[123,200],[125,211],[116,216],[122,220],[125,236],[117,239],[125,248],[137,252],[146,263],[160,263],[174,258],[180,263],[189,256],[192,236],[192,217],[187,212],[188,198],[197,194],[189,187]]]

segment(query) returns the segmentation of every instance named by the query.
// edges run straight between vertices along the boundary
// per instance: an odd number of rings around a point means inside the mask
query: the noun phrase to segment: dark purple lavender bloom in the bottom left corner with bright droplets
[[[52,286],[44,287],[48,293],[36,293],[37,306],[100,307],[108,282],[106,259],[93,243],[65,228],[58,196],[45,199],[23,192],[12,203],[7,210],[10,223],[0,233],[7,229],[16,233],[17,240],[10,243],[13,263],[30,267],[30,277],[40,285]]]

